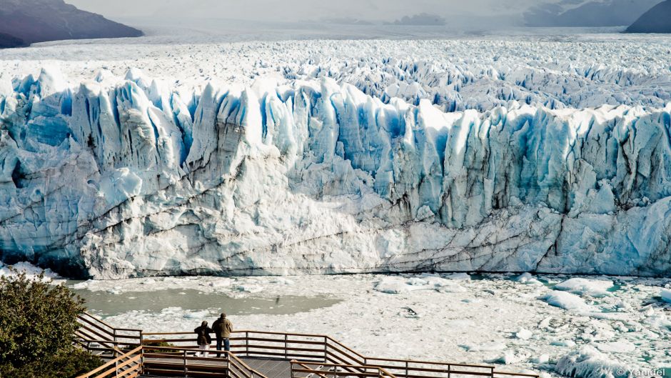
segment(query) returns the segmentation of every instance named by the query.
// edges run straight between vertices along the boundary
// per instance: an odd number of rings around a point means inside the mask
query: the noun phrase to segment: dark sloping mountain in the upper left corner
[[[61,39],[96,39],[142,36],[142,31],[104,16],[77,9],[64,0],[3,0],[0,7],[0,35],[20,44]],[[8,44],[7,47],[11,46]]]

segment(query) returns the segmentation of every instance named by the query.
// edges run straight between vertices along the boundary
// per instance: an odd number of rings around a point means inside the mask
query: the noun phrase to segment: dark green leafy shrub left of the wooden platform
[[[0,377],[76,377],[101,360],[74,347],[84,299],[19,273],[0,277]]]

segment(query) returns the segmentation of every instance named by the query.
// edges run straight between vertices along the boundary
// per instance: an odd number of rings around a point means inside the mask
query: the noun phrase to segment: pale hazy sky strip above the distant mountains
[[[582,0],[577,0],[582,1]],[[227,19],[301,21],[352,17],[373,21],[430,12],[445,16],[520,15],[530,6],[575,0],[66,0],[109,17],[216,17]]]

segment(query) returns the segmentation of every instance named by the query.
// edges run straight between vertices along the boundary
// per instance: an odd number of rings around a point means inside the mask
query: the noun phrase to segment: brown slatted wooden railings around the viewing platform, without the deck
[[[79,322],[81,328],[77,333],[78,342],[91,352],[106,353],[111,356],[110,358],[126,358],[125,361],[127,361],[128,357],[123,357],[126,354],[121,354],[120,349],[139,346],[145,357],[151,357],[144,362],[143,366],[146,369],[179,374],[186,374],[188,370],[189,377],[193,374],[221,375],[221,372],[208,371],[211,367],[204,367],[205,364],[203,364],[203,362],[208,362],[208,364],[216,365],[219,361],[221,364],[225,362],[224,371],[226,374],[231,374],[232,378],[264,378],[262,374],[250,369],[238,359],[238,357],[255,357],[292,360],[296,362],[298,370],[311,369],[311,366],[331,365],[336,371],[352,373],[350,375],[362,374],[368,368],[375,368],[381,369],[380,372],[390,374],[391,377],[385,375],[386,378],[538,378],[537,374],[499,372],[492,365],[365,357],[335,339],[319,334],[236,331],[231,334],[230,354],[222,352],[223,358],[196,357],[194,350],[197,348],[196,338],[193,332],[142,332],[138,329],[118,329],[90,314],[80,317]],[[158,343],[169,343],[171,347],[157,347]],[[213,356],[217,352],[209,353]],[[305,364],[305,366],[298,367],[297,364]],[[297,371],[297,373],[302,372]],[[320,377],[319,374],[325,373],[315,374],[311,377]],[[328,374],[325,375],[328,376]],[[86,378],[89,377],[94,376]],[[107,377],[116,376],[96,376],[96,378]],[[118,377],[129,378],[123,375]]]

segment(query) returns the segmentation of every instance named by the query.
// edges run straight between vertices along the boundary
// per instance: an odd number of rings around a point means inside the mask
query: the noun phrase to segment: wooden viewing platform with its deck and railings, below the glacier
[[[539,378],[483,364],[365,357],[317,334],[235,331],[231,352],[196,357],[193,332],[115,328],[91,314],[79,324],[77,344],[108,362],[78,378]]]

